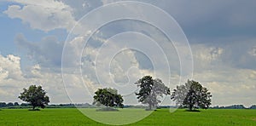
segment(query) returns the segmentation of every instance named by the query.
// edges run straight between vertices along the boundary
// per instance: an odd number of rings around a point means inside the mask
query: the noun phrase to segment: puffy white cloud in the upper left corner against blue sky
[[[76,21],[73,18],[72,9],[59,1],[32,1],[15,0],[20,5],[10,5],[4,14],[12,19],[19,18],[28,23],[32,29],[51,31],[58,28],[71,30]]]

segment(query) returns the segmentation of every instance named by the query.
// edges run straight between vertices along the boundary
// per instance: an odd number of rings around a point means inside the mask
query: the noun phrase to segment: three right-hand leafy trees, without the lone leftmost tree
[[[160,103],[163,95],[171,94],[171,91],[159,78],[145,76],[136,83],[139,91],[135,94],[139,102],[148,105],[148,109],[152,110]],[[171,100],[176,101],[177,105],[188,107],[189,110],[195,108],[207,109],[211,105],[211,93],[207,88],[193,80],[188,80],[184,85],[177,86],[173,89]],[[104,106],[123,107],[123,98],[118,94],[116,89],[98,89],[95,92],[94,104],[102,104]]]

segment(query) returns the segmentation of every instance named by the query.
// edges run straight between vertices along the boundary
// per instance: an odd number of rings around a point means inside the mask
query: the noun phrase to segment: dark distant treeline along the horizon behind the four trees
[[[18,102],[0,102],[0,108],[30,108],[31,105],[28,103],[21,103],[19,104]],[[83,104],[52,104],[52,105],[47,105],[47,108],[94,108],[94,107],[99,107],[95,105],[90,105],[89,103],[83,103]],[[103,106],[102,106],[103,107]],[[170,108],[170,107],[175,107],[175,106],[159,106],[158,108]],[[131,106],[131,105],[126,105],[124,108],[147,108],[147,106]],[[250,106],[250,107],[245,107],[243,105],[232,105],[232,106],[211,106],[209,107],[210,109],[256,109],[256,105]]]

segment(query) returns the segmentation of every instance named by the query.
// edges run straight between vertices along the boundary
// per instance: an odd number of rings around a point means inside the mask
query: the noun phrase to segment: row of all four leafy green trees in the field
[[[177,105],[188,107],[191,111],[195,108],[207,109],[211,105],[211,93],[207,88],[193,80],[188,80],[184,85],[177,86],[172,93],[168,87],[159,78],[145,76],[139,79],[136,83],[139,88],[137,100],[148,105],[148,109],[156,108],[160,103],[160,98],[164,95],[171,94],[171,100],[177,102]],[[94,95],[95,105],[117,106],[123,107],[123,96],[118,94],[117,89],[105,88],[98,89]],[[20,100],[28,102],[34,110],[36,106],[44,108],[49,103],[49,96],[41,86],[31,85],[28,89],[23,89],[20,93]]]

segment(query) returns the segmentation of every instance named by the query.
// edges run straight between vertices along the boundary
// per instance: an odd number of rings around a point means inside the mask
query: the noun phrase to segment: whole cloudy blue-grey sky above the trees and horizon
[[[212,106],[254,105],[255,9],[254,0],[2,0],[0,101],[21,103],[36,84],[52,104],[91,103],[112,87],[137,105],[134,83],[151,75],[171,89],[200,82]]]

